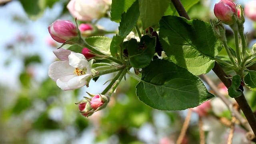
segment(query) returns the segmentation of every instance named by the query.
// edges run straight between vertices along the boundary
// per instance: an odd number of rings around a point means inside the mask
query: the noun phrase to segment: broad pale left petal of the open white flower
[[[50,64],[48,75],[56,82],[59,78],[74,75],[74,70],[75,69],[69,65],[68,61],[57,61]]]

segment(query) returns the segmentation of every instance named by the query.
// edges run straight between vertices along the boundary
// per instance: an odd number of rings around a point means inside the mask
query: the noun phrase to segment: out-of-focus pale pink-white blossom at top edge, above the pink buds
[[[102,18],[109,7],[104,0],[70,0],[67,5],[72,16],[85,22]]]

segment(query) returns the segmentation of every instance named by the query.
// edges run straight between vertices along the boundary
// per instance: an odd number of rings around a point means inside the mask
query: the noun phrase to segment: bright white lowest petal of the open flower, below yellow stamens
[[[85,86],[86,84],[88,84],[88,81],[90,80],[89,77],[90,77],[90,74],[76,76],[72,78],[70,81],[68,81],[68,87],[73,90],[77,88],[81,88],[82,86]]]

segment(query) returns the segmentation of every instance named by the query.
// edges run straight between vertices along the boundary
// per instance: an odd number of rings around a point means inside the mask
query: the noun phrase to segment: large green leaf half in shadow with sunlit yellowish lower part
[[[178,16],[162,17],[159,38],[170,60],[194,75],[209,72],[222,48],[209,23]]]

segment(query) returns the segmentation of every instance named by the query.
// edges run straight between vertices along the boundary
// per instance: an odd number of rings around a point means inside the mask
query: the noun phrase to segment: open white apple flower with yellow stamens
[[[49,66],[48,75],[58,87],[62,90],[75,90],[88,86],[92,72],[83,54],[62,48],[53,52],[61,61]]]

